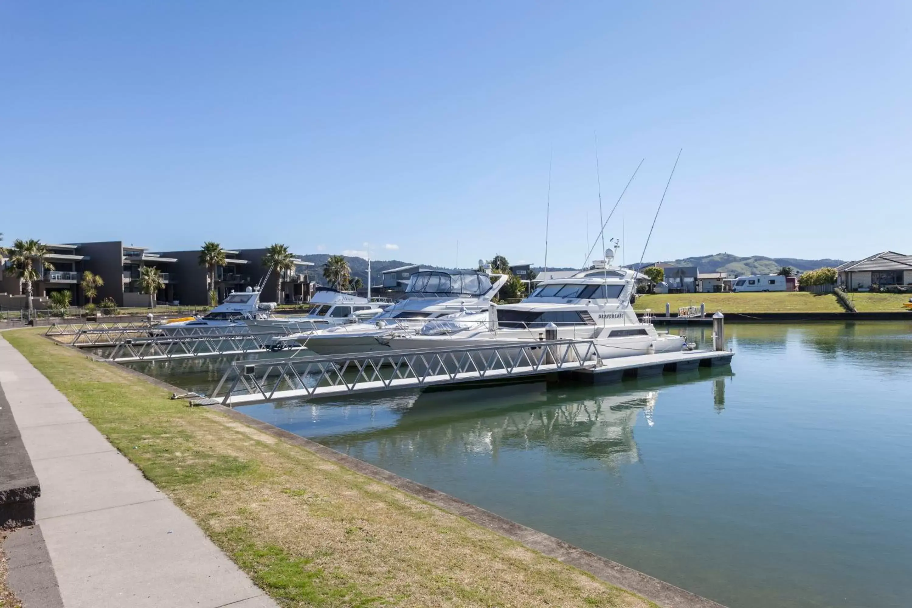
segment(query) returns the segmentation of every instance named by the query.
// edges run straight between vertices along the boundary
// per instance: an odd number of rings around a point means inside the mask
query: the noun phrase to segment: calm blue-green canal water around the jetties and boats
[[[243,411],[731,608],[910,605],[912,323],[726,329],[676,380]]]

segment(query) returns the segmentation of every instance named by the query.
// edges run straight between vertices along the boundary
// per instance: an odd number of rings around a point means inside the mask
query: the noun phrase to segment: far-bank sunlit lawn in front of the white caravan
[[[665,303],[671,304],[671,313],[681,306],[706,304],[708,313],[844,313],[833,294],[807,292],[771,292],[768,294],[651,294],[637,295],[634,309],[642,312],[651,308],[653,313],[665,314]],[[860,310],[860,309],[859,309]]]

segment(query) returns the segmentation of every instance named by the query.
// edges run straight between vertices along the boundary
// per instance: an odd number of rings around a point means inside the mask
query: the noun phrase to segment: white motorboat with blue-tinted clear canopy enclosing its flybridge
[[[492,283],[492,280],[494,282]],[[346,355],[389,350],[386,339],[417,334],[435,319],[452,314],[486,314],[492,298],[506,283],[505,274],[477,271],[420,271],[412,273],[406,297],[369,323],[339,325],[288,336],[320,355]]]

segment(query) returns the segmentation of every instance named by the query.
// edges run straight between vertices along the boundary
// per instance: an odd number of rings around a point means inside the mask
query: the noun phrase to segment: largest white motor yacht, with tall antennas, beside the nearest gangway
[[[606,258],[610,261],[610,250]],[[441,350],[543,339],[593,340],[598,356],[650,355],[687,348],[679,335],[659,334],[633,310],[637,273],[596,263],[565,279],[539,283],[518,304],[492,304],[486,314],[454,315],[413,333],[381,338],[390,349]]]

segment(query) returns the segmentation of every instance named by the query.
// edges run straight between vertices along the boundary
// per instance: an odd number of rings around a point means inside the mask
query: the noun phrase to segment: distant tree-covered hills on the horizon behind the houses
[[[308,253],[299,257],[306,262],[313,262],[313,273],[316,278],[316,283],[326,284],[326,279],[323,278],[323,265],[326,263],[326,260],[329,259],[329,255],[326,253]],[[351,268],[352,278],[358,277],[367,285],[368,261],[364,258],[348,256],[346,256],[345,259],[348,262],[348,266]],[[763,255],[741,257],[738,255],[731,255],[731,253],[716,253],[715,255],[702,255],[692,258],[683,258],[681,260],[671,260],[667,263],[673,263],[680,266],[697,266],[701,273],[729,273],[734,276],[741,276],[743,274],[775,274],[782,266],[792,266],[795,270],[803,272],[817,270],[818,268],[824,268],[825,266],[835,267],[843,262],[843,260],[830,260],[828,258],[824,258],[823,260],[802,260],[800,258],[768,258]],[[631,264],[630,267],[643,268],[651,266],[654,263],[658,262]],[[410,264],[410,262],[403,262],[401,260],[374,260],[370,263],[370,273],[372,274],[371,282],[378,285],[383,281],[384,271],[389,270],[390,268],[399,268],[399,266],[409,266]],[[421,264],[421,266],[430,269],[441,269],[440,266],[432,266],[430,264]],[[535,272],[541,272],[542,268],[537,267],[534,270]],[[576,269],[549,267],[549,270],[559,271]]]

